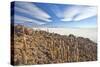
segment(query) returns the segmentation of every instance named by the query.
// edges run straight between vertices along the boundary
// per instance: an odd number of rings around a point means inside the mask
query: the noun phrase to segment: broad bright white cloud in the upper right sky
[[[96,7],[72,6],[65,10],[62,21],[80,21],[89,17],[96,16]]]

